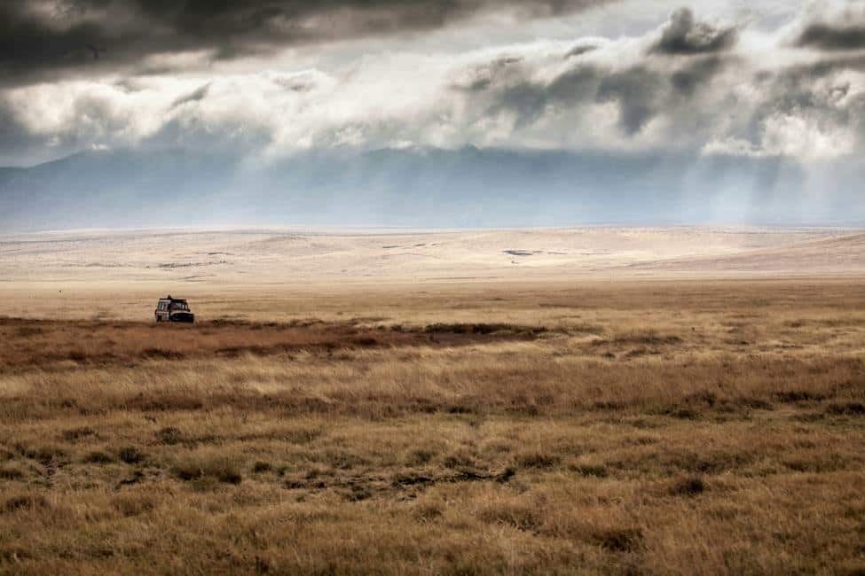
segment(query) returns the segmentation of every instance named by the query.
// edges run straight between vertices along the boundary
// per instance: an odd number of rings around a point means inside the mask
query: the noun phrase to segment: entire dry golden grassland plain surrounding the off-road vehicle
[[[863,280],[859,230],[0,237],[0,572],[865,573]]]

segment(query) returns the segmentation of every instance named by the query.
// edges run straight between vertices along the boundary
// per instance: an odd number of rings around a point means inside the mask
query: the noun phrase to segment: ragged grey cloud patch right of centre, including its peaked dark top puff
[[[624,136],[640,134],[660,115],[692,126],[694,122],[689,120],[698,120],[706,113],[699,109],[701,91],[735,59],[723,53],[735,42],[733,30],[709,27],[681,10],[651,41],[654,48],[630,66],[619,64],[614,56],[617,48],[607,52],[601,46],[586,44],[579,47],[586,50],[563,55],[570,66],[552,79],[540,80],[530,62],[496,58],[474,66],[452,87],[484,103],[487,117],[510,114],[516,128],[529,126],[549,112],[607,103],[617,105],[617,124]],[[584,54],[592,56],[576,58]],[[668,58],[669,54],[688,54],[691,58],[677,61]]]

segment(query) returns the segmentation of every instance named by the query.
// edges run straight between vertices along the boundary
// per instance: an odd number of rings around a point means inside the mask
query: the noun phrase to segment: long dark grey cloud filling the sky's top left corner
[[[135,66],[211,51],[215,58],[287,45],[448,26],[484,12],[541,18],[615,0],[23,0],[0,3],[4,84]]]

